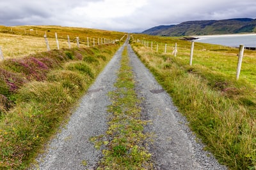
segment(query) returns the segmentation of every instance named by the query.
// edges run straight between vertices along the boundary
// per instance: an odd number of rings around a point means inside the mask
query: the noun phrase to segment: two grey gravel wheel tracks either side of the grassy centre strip
[[[156,169],[227,169],[218,164],[204,145],[195,141],[186,118],[177,112],[172,99],[141,63],[130,45],[128,52],[133,67],[138,96],[143,97],[142,117],[152,120],[145,132],[153,132],[154,143],[148,146]],[[101,150],[94,148],[90,137],[104,134],[108,129],[106,106],[108,92],[113,91],[116,71],[120,67],[122,46],[97,77],[68,124],[52,139],[44,155],[32,169],[95,169],[102,158]],[[210,155],[210,156],[209,156]],[[87,164],[84,166],[83,163]]]

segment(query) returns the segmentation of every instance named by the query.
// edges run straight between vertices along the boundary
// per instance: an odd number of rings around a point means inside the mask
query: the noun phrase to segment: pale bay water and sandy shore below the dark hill
[[[193,36],[195,42],[209,43],[214,45],[234,46],[244,45],[246,47],[256,47],[256,34],[224,34]]]

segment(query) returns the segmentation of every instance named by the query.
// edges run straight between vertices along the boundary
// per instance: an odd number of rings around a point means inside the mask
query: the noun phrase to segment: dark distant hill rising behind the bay
[[[227,20],[195,20],[177,25],[159,25],[143,31],[157,36],[191,36],[209,34],[237,34],[256,32],[256,19],[232,18]]]

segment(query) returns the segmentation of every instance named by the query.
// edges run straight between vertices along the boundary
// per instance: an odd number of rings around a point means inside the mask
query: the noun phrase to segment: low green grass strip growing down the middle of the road
[[[134,80],[127,48],[122,54],[116,90],[109,93],[109,128],[106,136],[92,138],[95,146],[106,145],[104,158],[97,169],[152,169],[150,153],[145,149],[147,134],[143,133],[146,121],[141,120],[140,101],[134,90]],[[102,139],[111,139],[104,141]]]

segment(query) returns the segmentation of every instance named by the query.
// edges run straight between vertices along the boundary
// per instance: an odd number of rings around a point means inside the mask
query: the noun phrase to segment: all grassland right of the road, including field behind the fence
[[[195,43],[177,38],[133,34],[132,48],[154,73],[191,129],[221,164],[230,169],[256,169],[256,52],[245,50],[241,76],[236,80],[237,48]],[[172,45],[151,50],[137,39]],[[168,41],[169,39],[169,41]],[[177,57],[172,55],[175,42]]]

